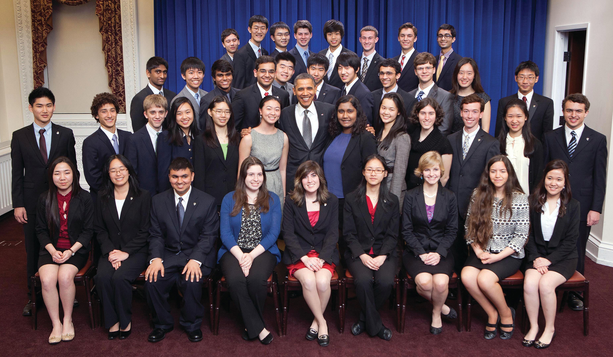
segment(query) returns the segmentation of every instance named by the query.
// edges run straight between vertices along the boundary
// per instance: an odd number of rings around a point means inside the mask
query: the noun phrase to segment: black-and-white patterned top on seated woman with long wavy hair
[[[473,197],[471,197],[470,205],[468,205],[468,214],[466,214],[465,229],[468,232],[468,217],[470,217],[471,207],[473,206]],[[522,259],[524,258],[524,245],[528,240],[528,232],[530,231],[530,206],[528,205],[528,195],[520,192],[515,192],[511,204],[511,217],[508,212],[504,211],[500,214],[502,200],[494,197],[492,208],[492,238],[487,242],[484,252],[500,253],[504,248],[509,247],[515,250],[511,257]],[[474,242],[472,237],[465,236],[466,243]]]

